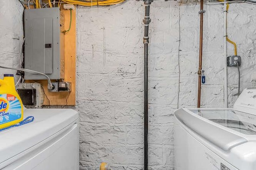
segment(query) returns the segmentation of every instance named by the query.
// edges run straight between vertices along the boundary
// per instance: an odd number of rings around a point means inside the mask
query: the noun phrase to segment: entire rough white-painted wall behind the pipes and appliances
[[[178,99],[179,9],[180,107],[196,106],[199,51],[198,4],[154,1],[150,8],[149,165],[174,169],[173,113]],[[205,6],[202,85],[203,107],[224,107],[223,7]],[[0,1],[1,64],[18,66],[22,42],[22,7]],[[2,18],[4,18],[2,20]],[[80,112],[80,169],[143,168],[143,2],[77,9],[77,107]],[[228,33],[242,57],[241,86],[251,85],[255,69],[256,10],[232,4]],[[105,30],[105,37],[104,37]],[[104,44],[105,41],[105,44]],[[93,47],[93,48],[92,48]],[[105,48],[104,48],[105,47]],[[233,47],[228,44],[228,55]],[[105,59],[104,59],[105,56]],[[3,73],[10,70],[0,70]],[[237,98],[236,68],[228,68],[229,106]]]

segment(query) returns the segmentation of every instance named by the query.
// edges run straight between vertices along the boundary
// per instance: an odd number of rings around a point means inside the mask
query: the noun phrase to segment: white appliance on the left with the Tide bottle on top
[[[0,132],[1,170],[78,170],[78,113],[24,109],[34,121]]]

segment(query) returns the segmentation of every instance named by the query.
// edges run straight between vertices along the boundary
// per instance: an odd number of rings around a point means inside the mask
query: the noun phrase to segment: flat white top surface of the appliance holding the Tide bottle
[[[74,123],[78,113],[73,109],[24,109],[24,119],[34,121],[0,132],[0,163],[44,141]]]

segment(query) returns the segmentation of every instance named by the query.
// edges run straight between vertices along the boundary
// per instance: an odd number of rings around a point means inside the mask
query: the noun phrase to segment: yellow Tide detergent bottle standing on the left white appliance
[[[23,120],[23,104],[15,90],[13,74],[0,79],[0,129]]]

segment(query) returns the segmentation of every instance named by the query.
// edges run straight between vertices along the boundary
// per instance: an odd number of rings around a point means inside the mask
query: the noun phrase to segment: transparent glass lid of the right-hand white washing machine
[[[245,135],[256,135],[256,115],[233,109],[188,109],[214,123]]]

